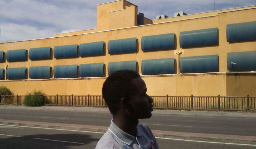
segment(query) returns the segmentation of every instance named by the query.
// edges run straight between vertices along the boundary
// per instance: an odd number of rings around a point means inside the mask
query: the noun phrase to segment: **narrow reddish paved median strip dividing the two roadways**
[[[0,120],[0,124],[35,127],[35,128],[92,131],[92,132],[99,132],[99,133],[105,133],[108,129],[108,127],[106,126],[60,124],[60,123],[16,121],[16,120]],[[189,132],[162,131],[162,130],[152,130],[152,132],[156,137],[165,137],[165,138],[171,138],[171,139],[184,139],[184,140],[223,142],[223,143],[241,143],[241,144],[256,145],[256,136],[189,133]]]

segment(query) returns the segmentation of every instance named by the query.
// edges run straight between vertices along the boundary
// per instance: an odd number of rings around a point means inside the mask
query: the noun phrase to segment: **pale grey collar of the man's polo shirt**
[[[121,140],[122,142],[124,142],[127,145],[132,144],[132,142],[135,140],[135,137],[124,132],[123,130],[121,130],[119,127],[117,127],[114,122],[113,119],[111,120],[110,126],[108,128],[119,140]],[[137,136],[142,136],[142,133],[138,130],[136,131],[136,137]]]

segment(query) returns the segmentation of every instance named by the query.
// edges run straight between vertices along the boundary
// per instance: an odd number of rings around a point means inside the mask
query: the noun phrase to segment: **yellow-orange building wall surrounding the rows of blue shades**
[[[116,1],[107,3],[104,5],[97,5],[97,29],[109,29],[109,11],[122,10],[126,5],[130,3],[125,1]],[[137,6],[126,7],[124,12],[132,8],[133,14],[136,13]],[[146,59],[160,59],[160,58],[175,58],[177,68],[179,68],[179,59],[187,56],[207,56],[207,55],[218,55],[219,56],[219,72],[227,71],[227,53],[228,52],[243,52],[243,51],[256,51],[256,41],[250,42],[239,42],[239,43],[228,43],[226,40],[226,25],[231,23],[249,22],[256,21],[255,17],[251,17],[248,14],[256,14],[256,8],[242,9],[236,11],[227,11],[218,13],[215,16],[204,16],[199,18],[177,20],[171,22],[163,22],[157,24],[148,24],[142,26],[134,26],[123,29],[112,29],[99,31],[94,33],[85,33],[80,35],[71,35],[65,37],[54,37],[37,40],[27,40],[19,42],[1,43],[0,51],[40,48],[40,47],[52,47],[54,51],[55,46],[73,45],[91,42],[105,42],[105,55],[103,56],[89,56],[89,57],[77,57],[77,58],[65,58],[65,59],[53,59],[40,60],[40,61],[28,61],[24,62],[8,62],[5,61],[0,63],[0,68],[17,68],[17,67],[29,67],[32,66],[54,66],[57,65],[71,65],[71,64],[89,64],[89,63],[105,63],[108,68],[109,62],[118,61],[131,61],[136,60],[138,62],[138,73],[141,72],[141,62]],[[113,13],[112,19],[116,19],[119,12]],[[134,12],[133,12],[134,11]],[[107,15],[106,15],[107,14]],[[205,14],[207,15],[207,13]],[[131,21],[137,22],[134,18]],[[129,22],[130,23],[130,22]],[[118,24],[112,24],[113,28],[119,27]],[[127,25],[127,24],[125,24]],[[181,48],[180,47],[180,32],[218,28],[218,39],[219,44],[216,46],[206,47],[195,47],[195,48]],[[175,33],[175,49],[173,50],[162,50],[143,52],[141,49],[141,38],[143,36],[159,35]],[[68,35],[68,34],[67,34]],[[137,38],[137,52],[129,54],[115,54],[110,55],[107,52],[108,41],[126,38]],[[182,52],[180,55],[177,53]],[[108,72],[106,71],[106,76]],[[227,76],[222,73],[209,73],[205,74],[179,74],[177,70],[176,75],[159,75],[159,76],[143,76],[142,77],[147,86],[148,93],[150,95],[244,95],[256,93],[251,86],[246,85],[240,81],[240,87],[243,88],[240,92],[236,92],[235,87],[238,87],[233,77]],[[255,80],[255,75],[250,77],[239,76],[240,80],[250,82]],[[9,87],[15,94],[26,94],[34,89],[42,89],[47,94],[101,94],[101,87],[105,78],[78,78],[78,79],[46,79],[46,80],[10,80],[0,81],[0,85]],[[234,89],[233,89],[234,88]]]

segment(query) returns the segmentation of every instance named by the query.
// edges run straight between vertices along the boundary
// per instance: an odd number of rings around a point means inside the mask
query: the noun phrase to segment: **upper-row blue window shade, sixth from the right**
[[[72,58],[77,57],[77,45],[55,46],[55,58]]]

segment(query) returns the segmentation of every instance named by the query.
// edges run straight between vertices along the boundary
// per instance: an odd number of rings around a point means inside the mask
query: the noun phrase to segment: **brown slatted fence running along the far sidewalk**
[[[256,96],[151,96],[155,109],[255,111]],[[2,95],[0,104],[23,105],[25,95]],[[107,107],[102,95],[43,95],[45,105]]]

